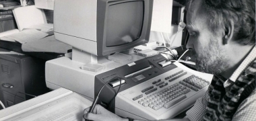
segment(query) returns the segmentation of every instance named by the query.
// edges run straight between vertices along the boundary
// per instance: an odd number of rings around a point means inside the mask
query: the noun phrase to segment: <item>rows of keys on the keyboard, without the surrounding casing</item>
[[[181,71],[183,72],[183,71]],[[181,75],[171,78],[170,81],[174,81],[175,79],[182,77],[183,75],[186,75],[187,72],[182,73]],[[172,77],[171,75],[170,77]],[[166,77],[166,80],[169,77]],[[150,87],[147,87],[146,89],[143,89],[141,92],[145,92],[146,95],[156,91],[159,86],[160,88],[167,86],[168,83],[164,83],[164,81],[161,81],[161,79],[158,79],[158,81],[154,81],[152,83],[153,85]],[[174,83],[173,85],[170,85],[163,89],[162,91],[159,91],[158,93],[154,93],[151,95],[148,95],[147,97],[144,97],[143,99],[139,100],[139,104],[145,107],[153,108],[154,110],[159,110],[160,108],[170,108],[170,106],[173,106],[174,104],[177,104],[181,100],[186,98],[186,93],[189,93],[191,89],[194,91],[199,91],[199,89],[202,89],[203,87],[209,85],[209,81],[205,81],[205,79],[201,79],[195,75],[191,75],[190,77],[187,77],[186,79],[183,79],[183,81],[179,81],[179,83]],[[156,87],[154,87],[156,85]],[[139,99],[140,97],[143,97],[143,95],[139,95],[133,98],[135,101],[136,99]]]

